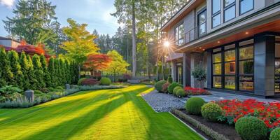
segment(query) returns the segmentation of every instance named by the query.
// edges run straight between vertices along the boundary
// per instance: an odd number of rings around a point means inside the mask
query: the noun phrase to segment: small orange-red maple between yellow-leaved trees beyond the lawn
[[[87,56],[87,60],[83,66],[90,71],[102,71],[109,66],[111,61],[112,59],[108,55],[92,54]]]

